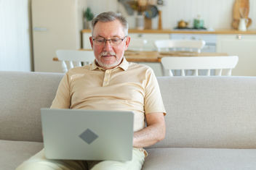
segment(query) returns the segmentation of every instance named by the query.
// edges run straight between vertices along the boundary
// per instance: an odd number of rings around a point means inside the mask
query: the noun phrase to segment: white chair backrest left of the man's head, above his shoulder
[[[68,72],[68,69],[73,67],[90,64],[95,60],[93,51],[57,50],[56,54],[57,59],[62,61],[63,72]]]

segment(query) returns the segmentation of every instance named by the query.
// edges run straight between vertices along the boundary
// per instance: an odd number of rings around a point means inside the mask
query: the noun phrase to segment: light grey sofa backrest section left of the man
[[[63,74],[0,72],[0,139],[42,141],[40,108],[49,107]]]

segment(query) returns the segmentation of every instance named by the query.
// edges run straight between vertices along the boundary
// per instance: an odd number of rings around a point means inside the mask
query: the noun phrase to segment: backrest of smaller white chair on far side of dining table
[[[197,51],[205,46],[203,40],[158,40],[155,41],[157,51]]]

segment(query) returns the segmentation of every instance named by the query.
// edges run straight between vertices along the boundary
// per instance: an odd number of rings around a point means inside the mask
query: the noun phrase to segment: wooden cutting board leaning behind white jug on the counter
[[[249,0],[236,0],[233,4],[233,22],[232,27],[238,29],[239,20],[241,18],[241,13],[245,18],[249,15]],[[252,20],[248,18],[247,27],[252,24]]]

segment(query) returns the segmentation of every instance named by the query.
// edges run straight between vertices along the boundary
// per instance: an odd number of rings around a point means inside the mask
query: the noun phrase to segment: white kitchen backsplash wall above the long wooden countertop
[[[177,21],[185,20],[193,25],[193,19],[198,14],[204,20],[204,26],[213,29],[230,29],[233,20],[233,4],[235,0],[164,0],[165,6],[159,7],[162,11],[162,27],[173,28]],[[256,29],[256,0],[250,0],[249,17],[252,25],[249,30]],[[128,16],[124,7],[117,0],[87,0],[87,4],[95,14],[104,11],[120,11],[128,21],[129,27],[135,27],[135,17]],[[158,17],[153,19],[153,28],[157,28]]]

